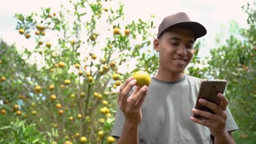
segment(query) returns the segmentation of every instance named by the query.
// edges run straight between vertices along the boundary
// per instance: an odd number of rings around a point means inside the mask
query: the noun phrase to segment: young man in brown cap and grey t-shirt
[[[204,35],[205,27],[186,13],[163,19],[154,40],[160,61],[151,84],[139,89],[129,77],[120,88],[111,134],[117,144],[235,144],[231,131],[238,127],[228,100],[221,93],[220,106],[200,99],[214,115],[194,109],[201,79],[183,73],[193,57],[195,40]],[[193,113],[208,120],[191,117]]]

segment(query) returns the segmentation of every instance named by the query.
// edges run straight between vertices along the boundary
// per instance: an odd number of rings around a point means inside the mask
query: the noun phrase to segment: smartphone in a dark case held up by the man
[[[219,106],[220,100],[217,96],[218,93],[224,94],[224,91],[227,87],[227,80],[202,80],[199,88],[199,92],[197,95],[197,101],[195,104],[195,109],[200,109],[202,111],[211,112],[215,114],[213,110],[199,103],[199,99],[206,99],[208,101],[213,102]],[[193,117],[198,119],[207,119],[201,115],[193,115]]]

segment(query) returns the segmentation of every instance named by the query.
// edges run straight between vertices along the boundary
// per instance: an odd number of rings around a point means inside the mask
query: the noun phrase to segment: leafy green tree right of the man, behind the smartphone
[[[208,74],[214,78],[226,79],[226,96],[229,107],[240,131],[256,134],[256,11],[254,3],[247,3],[243,10],[248,14],[248,29],[231,25],[231,36],[227,43],[213,48],[208,61]],[[252,133],[253,132],[253,133]],[[243,137],[243,136],[242,136]]]

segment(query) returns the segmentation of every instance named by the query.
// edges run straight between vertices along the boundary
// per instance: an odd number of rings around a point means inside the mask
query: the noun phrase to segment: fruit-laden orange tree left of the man
[[[50,142],[114,142],[118,86],[130,76],[118,67],[144,53],[152,20],[124,24],[123,4],[108,0],[69,1],[60,11],[15,18],[17,34],[36,45],[0,50],[1,117],[35,123]],[[10,135],[2,131],[2,140],[12,141]]]

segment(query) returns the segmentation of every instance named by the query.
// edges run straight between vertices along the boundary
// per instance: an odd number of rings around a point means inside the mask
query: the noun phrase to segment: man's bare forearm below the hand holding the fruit
[[[117,144],[139,144],[139,125],[125,122]]]

